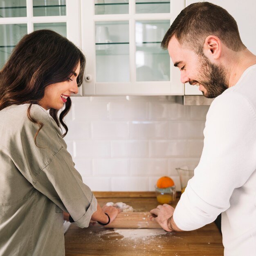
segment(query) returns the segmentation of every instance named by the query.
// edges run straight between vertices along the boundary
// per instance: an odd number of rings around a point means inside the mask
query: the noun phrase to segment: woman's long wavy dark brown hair
[[[35,135],[43,127],[43,123],[31,116],[32,104],[38,104],[44,97],[45,88],[53,83],[66,81],[80,61],[80,73],[77,85],[83,81],[85,56],[70,40],[60,34],[42,29],[25,35],[13,49],[9,59],[0,70],[0,110],[13,104],[29,103],[28,118],[39,125]],[[49,114],[58,127],[68,128],[63,121],[70,110],[71,99],[67,98],[64,110],[58,117],[58,110],[50,108]]]

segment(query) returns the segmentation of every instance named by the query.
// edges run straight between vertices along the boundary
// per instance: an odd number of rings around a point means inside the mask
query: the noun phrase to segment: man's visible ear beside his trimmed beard
[[[205,38],[203,51],[210,60],[214,61],[220,58],[221,50],[220,38],[217,36],[207,36]]]

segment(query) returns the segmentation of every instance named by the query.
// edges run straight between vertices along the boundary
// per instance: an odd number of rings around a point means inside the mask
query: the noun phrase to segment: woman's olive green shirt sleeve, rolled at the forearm
[[[13,161],[36,190],[70,213],[74,224],[88,227],[97,210],[96,198],[74,168],[54,119],[38,105],[31,108],[31,114],[43,123],[36,137],[37,145],[34,136],[39,126],[26,116],[20,134],[13,138]]]

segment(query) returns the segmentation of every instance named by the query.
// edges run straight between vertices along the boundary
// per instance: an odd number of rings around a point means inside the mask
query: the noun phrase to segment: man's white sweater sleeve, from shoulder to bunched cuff
[[[223,93],[213,101],[200,162],[173,214],[177,227],[198,229],[230,207],[234,189],[255,170],[255,137],[255,110],[244,96]]]

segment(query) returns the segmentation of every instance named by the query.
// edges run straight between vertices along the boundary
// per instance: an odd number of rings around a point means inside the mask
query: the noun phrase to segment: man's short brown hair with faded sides
[[[162,40],[163,49],[167,49],[173,35],[180,45],[195,52],[202,52],[204,40],[209,35],[217,36],[235,52],[245,49],[236,20],[225,9],[209,2],[190,4],[180,12]]]

